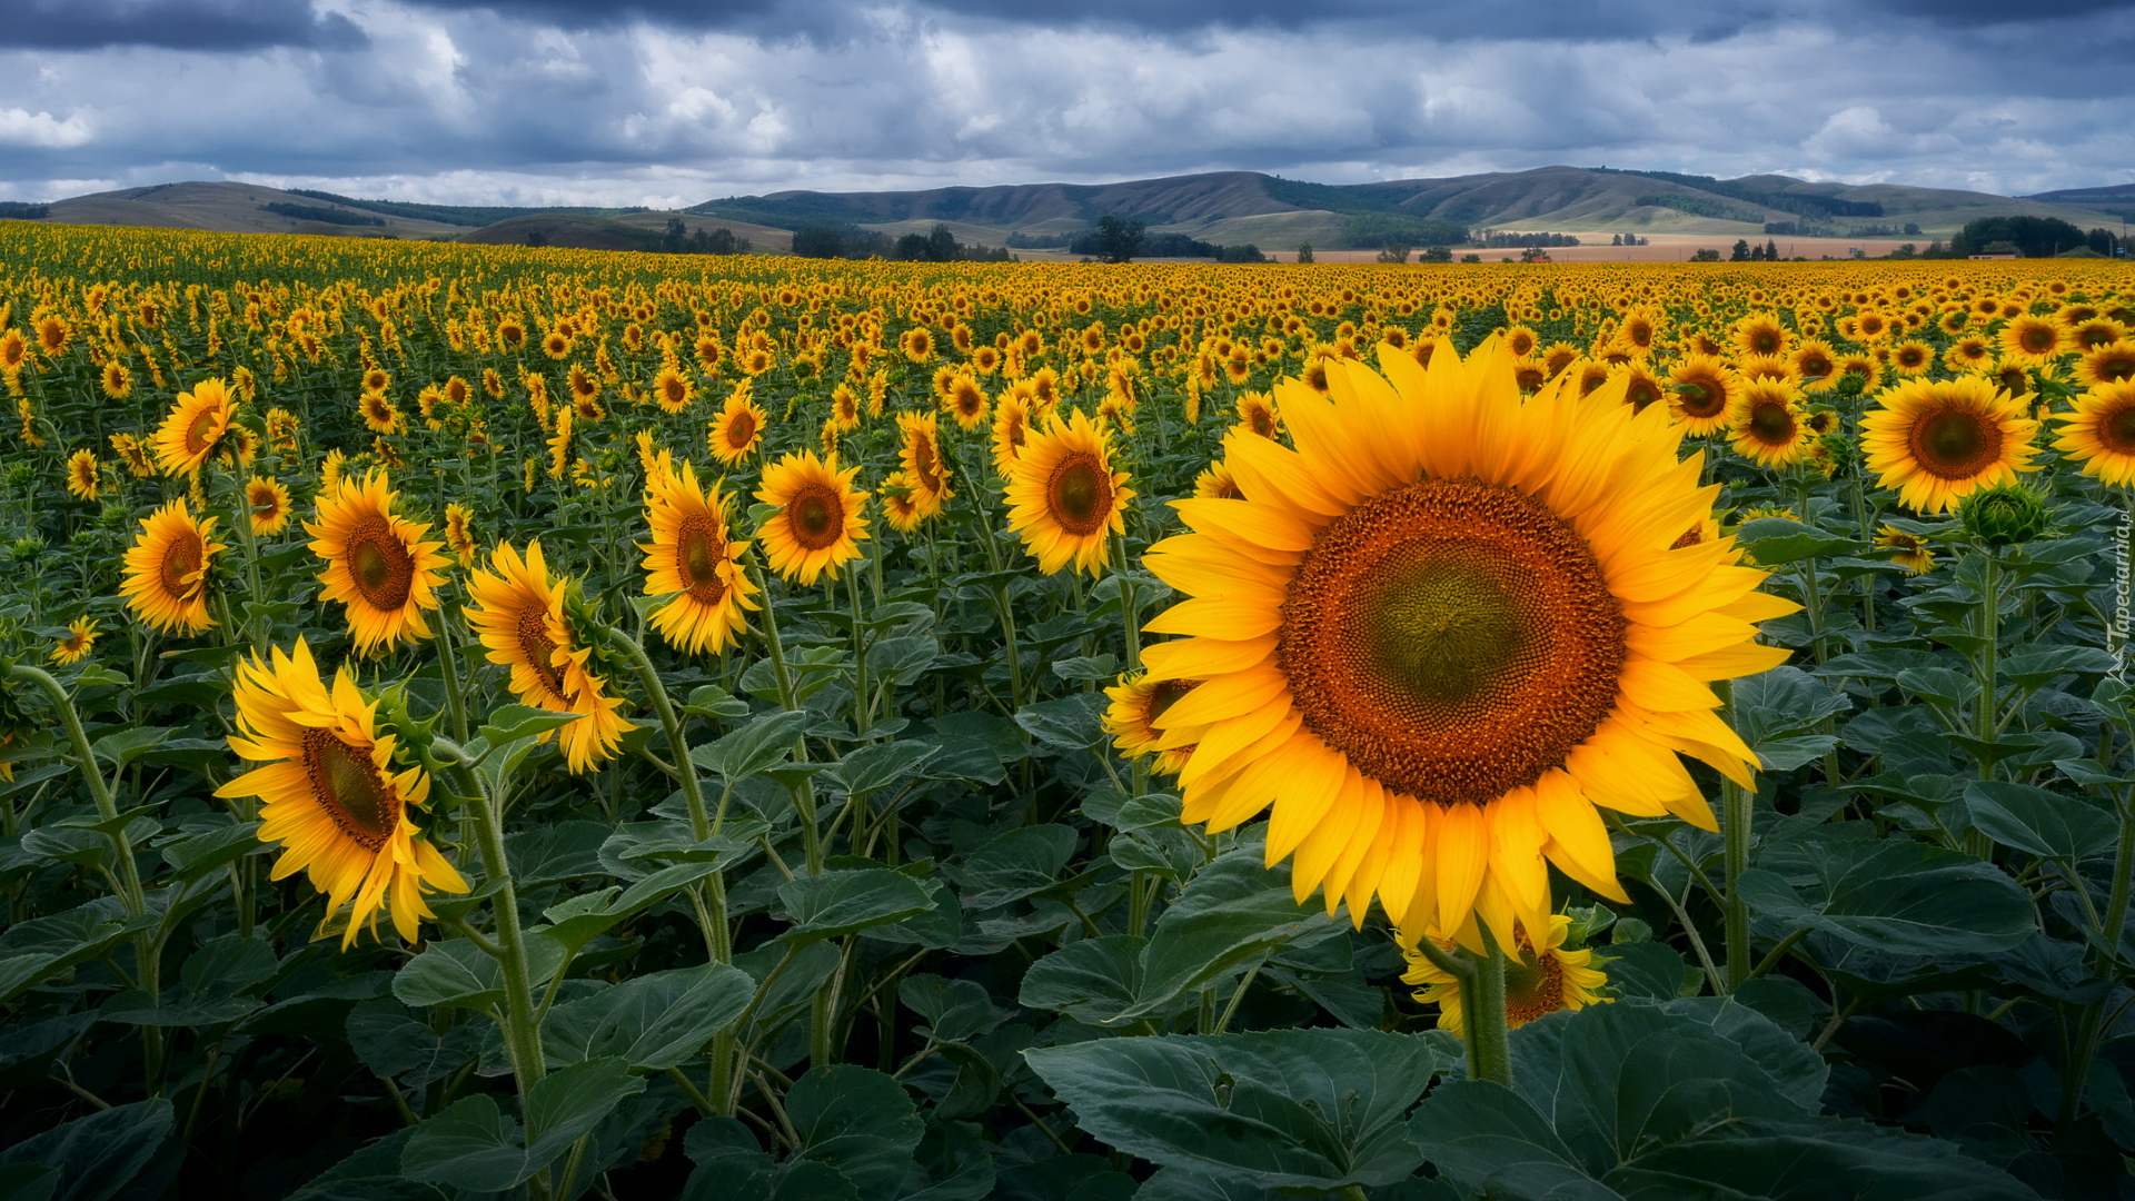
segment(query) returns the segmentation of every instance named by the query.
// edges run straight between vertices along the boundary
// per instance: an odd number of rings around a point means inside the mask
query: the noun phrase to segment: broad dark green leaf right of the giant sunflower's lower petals
[[[2037,932],[2024,889],[1968,855],[1904,838],[1819,842],[1808,865],[1806,893],[1776,872],[1744,872],[1751,913],[1898,955],[2007,951]]]

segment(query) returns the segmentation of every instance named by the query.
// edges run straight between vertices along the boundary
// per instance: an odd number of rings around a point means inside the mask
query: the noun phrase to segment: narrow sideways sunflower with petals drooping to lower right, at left
[[[570,622],[564,620],[570,579],[549,579],[540,539],[527,543],[525,556],[510,543],[497,545],[489,551],[489,566],[493,573],[468,573],[468,592],[476,605],[468,609],[468,624],[489,648],[489,662],[512,671],[512,695],[523,705],[579,714],[579,720],[555,731],[564,765],[574,776],[598,771],[596,761],[615,759],[623,744],[626,722],[615,714],[623,701],[604,695],[606,680],[585,669],[594,648],[576,645]]]

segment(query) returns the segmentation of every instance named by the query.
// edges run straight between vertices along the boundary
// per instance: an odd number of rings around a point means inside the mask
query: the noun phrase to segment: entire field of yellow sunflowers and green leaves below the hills
[[[0,224],[0,1199],[2131,1197],[2131,327]]]

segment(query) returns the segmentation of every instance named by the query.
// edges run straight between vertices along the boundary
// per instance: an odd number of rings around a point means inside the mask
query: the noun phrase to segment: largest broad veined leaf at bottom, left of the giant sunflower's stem
[[[1445,1060],[1377,1030],[1100,1039],[1025,1051],[1089,1135],[1161,1167],[1260,1188],[1394,1184],[1422,1156],[1409,1111]]]

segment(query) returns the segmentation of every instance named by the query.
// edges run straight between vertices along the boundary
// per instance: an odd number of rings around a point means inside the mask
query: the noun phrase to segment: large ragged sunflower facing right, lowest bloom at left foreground
[[[320,684],[312,648],[271,650],[269,660],[237,665],[237,729],[231,750],[258,763],[216,789],[218,797],[258,797],[260,842],[280,842],[273,878],[297,872],[327,893],[327,919],[348,906],[346,951],[363,927],[378,934],[380,910],[393,930],[416,940],[436,917],[425,889],[468,891],[468,880],[410,818],[429,797],[421,767],[395,771],[393,735],[378,733],[378,701],[365,701],[348,669]]]

